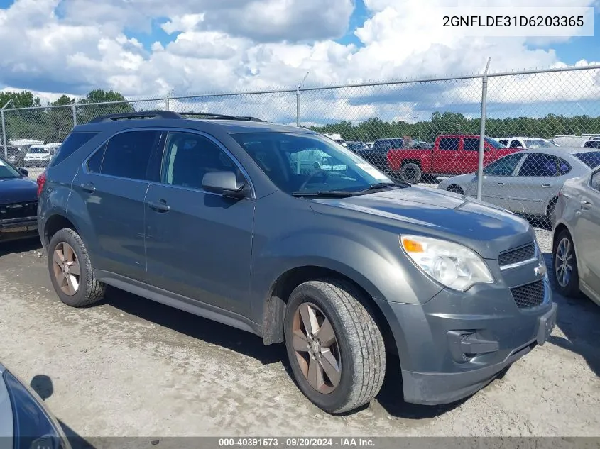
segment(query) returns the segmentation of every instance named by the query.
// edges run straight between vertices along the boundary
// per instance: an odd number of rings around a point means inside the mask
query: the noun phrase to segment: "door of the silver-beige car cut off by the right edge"
[[[581,213],[574,228],[577,243],[577,265],[582,282],[600,296],[600,170],[591,174],[587,188],[582,189]]]

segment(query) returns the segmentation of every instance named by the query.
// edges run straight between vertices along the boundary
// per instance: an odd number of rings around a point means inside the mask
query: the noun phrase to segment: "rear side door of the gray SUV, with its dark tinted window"
[[[84,202],[94,239],[94,267],[146,281],[144,199],[151,155],[161,131],[126,131],[112,136],[84,163],[72,183]]]

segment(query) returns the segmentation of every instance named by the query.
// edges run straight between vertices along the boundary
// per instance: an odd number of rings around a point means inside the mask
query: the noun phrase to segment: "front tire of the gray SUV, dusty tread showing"
[[[351,411],[367,404],[381,389],[386,373],[386,350],[381,331],[359,298],[360,292],[347,282],[314,280],[296,287],[285,309],[285,346],[296,384],[313,404],[330,414]],[[321,361],[313,360],[317,370],[319,366],[326,366],[327,360],[336,360],[339,367],[337,372],[333,370],[337,373],[337,384],[332,380],[334,377],[327,375],[327,370],[320,369],[324,379],[322,391],[312,387],[305,374],[310,370],[311,354],[318,353],[314,346],[313,352],[310,352],[314,340],[311,343],[310,338],[294,338],[295,334],[306,337],[307,329],[302,327],[303,324],[298,328],[298,324],[304,323],[300,310],[307,306],[313,308],[316,320],[320,321],[314,339],[317,346],[327,351],[327,344],[319,339],[319,336],[325,335],[322,331],[327,327],[324,320],[331,323],[336,342],[329,346],[329,357],[315,355],[315,360],[320,357]],[[295,342],[297,348],[302,348],[300,352],[295,350]],[[303,349],[305,343],[307,349]],[[332,365],[328,366],[331,372]]]

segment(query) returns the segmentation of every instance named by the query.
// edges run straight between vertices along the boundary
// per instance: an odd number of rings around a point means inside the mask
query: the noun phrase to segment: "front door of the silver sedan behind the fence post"
[[[515,153],[501,157],[484,167],[484,179],[481,182],[481,200],[490,204],[511,210],[509,199],[513,195],[511,191],[511,179],[514,178],[516,170],[523,159],[523,154]],[[477,196],[477,179],[469,184],[469,196]]]

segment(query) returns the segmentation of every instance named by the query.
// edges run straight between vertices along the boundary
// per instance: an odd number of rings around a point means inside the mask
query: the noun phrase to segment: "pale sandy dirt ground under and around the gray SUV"
[[[0,246],[0,361],[82,438],[600,436],[600,307],[555,301],[550,341],[473,397],[405,404],[391,360],[375,401],[329,416],[295,387],[282,345],[122,292],[69,308],[39,243],[22,241]]]

